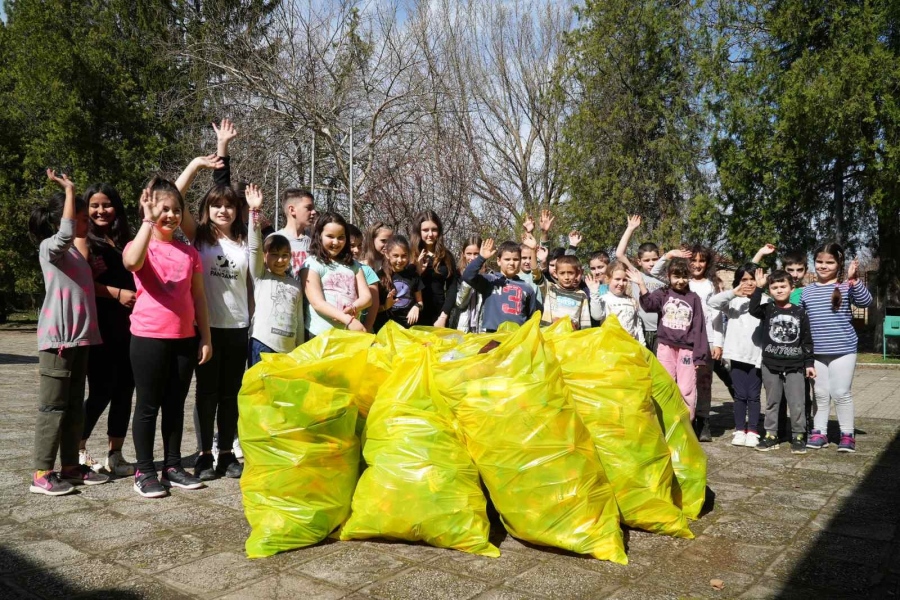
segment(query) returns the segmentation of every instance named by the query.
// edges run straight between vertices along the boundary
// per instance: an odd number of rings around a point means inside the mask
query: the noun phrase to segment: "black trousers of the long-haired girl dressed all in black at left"
[[[131,397],[134,395],[134,375],[131,372],[131,335],[121,332],[117,336],[103,334],[103,343],[91,346],[88,361],[88,397],[84,401],[84,432],[81,439],[91,437],[91,432],[109,407],[106,435],[124,438],[128,433],[131,417]]]

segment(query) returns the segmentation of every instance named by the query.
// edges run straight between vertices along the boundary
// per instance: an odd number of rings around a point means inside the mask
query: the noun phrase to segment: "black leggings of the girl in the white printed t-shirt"
[[[212,450],[213,429],[219,428],[219,451],[229,452],[237,433],[237,395],[247,364],[249,328],[210,329],[213,357],[197,367],[197,404],[200,449]]]

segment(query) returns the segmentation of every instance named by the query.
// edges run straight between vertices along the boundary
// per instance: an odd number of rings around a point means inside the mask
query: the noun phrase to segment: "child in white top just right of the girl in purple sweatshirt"
[[[688,285],[691,291],[700,296],[700,300],[703,302],[703,317],[706,320],[706,335],[709,338],[709,356],[711,360],[703,367],[697,369],[697,418],[694,420],[694,432],[697,434],[697,439],[701,442],[711,442],[712,433],[709,430],[709,413],[712,409],[712,374],[714,365],[722,358],[725,324],[722,313],[709,306],[708,301],[722,290],[719,289],[719,278],[716,276],[713,252],[700,244],[694,244],[690,249],[670,250],[664,254],[653,267],[653,276],[661,276],[668,261],[674,257],[688,259],[691,269],[691,280],[688,282]],[[730,387],[730,377],[727,377],[725,384]]]

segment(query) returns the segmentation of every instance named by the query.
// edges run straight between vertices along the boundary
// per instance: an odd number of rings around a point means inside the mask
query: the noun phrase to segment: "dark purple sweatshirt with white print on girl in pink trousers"
[[[641,307],[659,315],[656,339],[669,346],[694,351],[694,364],[705,365],[709,360],[709,341],[703,301],[688,290],[681,294],[665,287],[641,294]]]

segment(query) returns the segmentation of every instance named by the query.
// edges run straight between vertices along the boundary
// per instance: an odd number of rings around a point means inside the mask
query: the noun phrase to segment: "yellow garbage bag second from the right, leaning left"
[[[548,337],[548,343],[562,365],[578,414],[594,439],[622,522],[654,533],[693,538],[684,514],[673,502],[675,475],[650,399],[650,369],[642,346],[614,315],[600,328]]]

